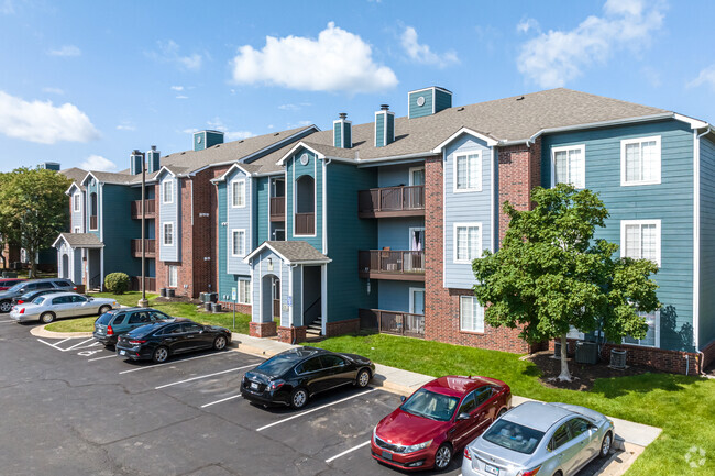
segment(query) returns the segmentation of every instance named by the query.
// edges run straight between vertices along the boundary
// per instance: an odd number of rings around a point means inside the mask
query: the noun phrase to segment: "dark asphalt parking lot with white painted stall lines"
[[[369,445],[396,395],[346,387],[300,411],[264,409],[239,396],[260,357],[224,351],[132,363],[92,340],[37,339],[8,321],[0,317],[3,473],[400,474],[372,460]],[[461,460],[443,474],[460,474]]]

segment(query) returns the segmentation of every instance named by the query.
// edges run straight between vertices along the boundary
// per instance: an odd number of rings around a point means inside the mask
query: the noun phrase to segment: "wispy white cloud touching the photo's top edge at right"
[[[519,73],[543,88],[563,86],[614,51],[647,46],[663,24],[664,5],[645,0],[607,0],[603,16],[588,16],[571,31],[549,30],[521,46]]]

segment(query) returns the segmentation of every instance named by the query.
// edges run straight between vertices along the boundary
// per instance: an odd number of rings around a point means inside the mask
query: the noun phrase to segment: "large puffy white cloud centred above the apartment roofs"
[[[395,73],[373,60],[367,43],[333,22],[318,40],[266,36],[260,51],[241,46],[231,67],[237,84],[308,91],[376,92],[397,85]]]

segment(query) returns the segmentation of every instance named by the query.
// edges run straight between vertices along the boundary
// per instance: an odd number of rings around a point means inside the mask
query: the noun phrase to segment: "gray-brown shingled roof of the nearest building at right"
[[[670,111],[565,88],[446,109],[424,118],[395,119],[395,142],[375,147],[373,122],[353,125],[353,147],[333,147],[332,130],[306,144],[331,157],[371,159],[428,153],[462,128],[497,141],[525,141],[544,129],[664,114]]]

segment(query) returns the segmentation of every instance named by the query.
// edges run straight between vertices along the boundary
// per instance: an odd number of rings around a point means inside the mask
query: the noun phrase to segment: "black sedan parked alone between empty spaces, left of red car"
[[[355,354],[316,347],[283,352],[251,372],[241,383],[241,395],[263,406],[302,408],[311,396],[342,385],[365,387],[375,374],[375,364]]]

